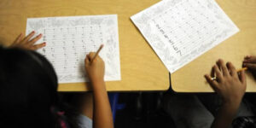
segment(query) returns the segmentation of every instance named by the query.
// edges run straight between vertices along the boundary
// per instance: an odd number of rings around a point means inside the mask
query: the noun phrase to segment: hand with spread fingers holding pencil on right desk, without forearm
[[[212,77],[214,74],[217,75],[218,79],[212,80],[206,74],[207,82],[218,95],[222,96],[224,105],[229,105],[230,108],[238,108],[247,87],[244,71],[238,74],[231,62],[227,62],[225,66],[223,60],[218,60],[217,65],[212,67]]]

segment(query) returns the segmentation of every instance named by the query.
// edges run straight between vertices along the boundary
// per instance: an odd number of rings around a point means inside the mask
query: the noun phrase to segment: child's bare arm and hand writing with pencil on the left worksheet
[[[94,55],[95,53],[90,53],[85,58],[85,69],[90,79],[94,96],[93,127],[113,128],[113,117],[104,82],[104,61],[99,55],[94,61],[91,61]]]

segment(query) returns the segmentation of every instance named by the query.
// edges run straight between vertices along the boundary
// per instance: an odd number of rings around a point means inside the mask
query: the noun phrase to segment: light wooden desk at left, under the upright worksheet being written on
[[[157,1],[140,0],[1,0],[0,41],[11,44],[26,30],[26,18],[118,14],[121,81],[107,82],[107,90],[167,90],[169,74],[130,16]],[[87,85],[60,84],[59,91],[89,90]]]

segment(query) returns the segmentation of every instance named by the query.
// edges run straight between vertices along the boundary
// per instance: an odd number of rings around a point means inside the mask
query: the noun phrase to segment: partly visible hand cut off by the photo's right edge
[[[242,61],[242,66],[256,71],[256,56],[247,55]]]

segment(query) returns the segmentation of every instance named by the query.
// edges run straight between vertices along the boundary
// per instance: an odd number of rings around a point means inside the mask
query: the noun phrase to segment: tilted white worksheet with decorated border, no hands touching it
[[[163,0],[131,20],[170,73],[239,32],[214,0]]]

